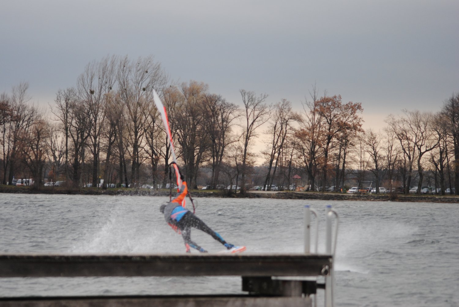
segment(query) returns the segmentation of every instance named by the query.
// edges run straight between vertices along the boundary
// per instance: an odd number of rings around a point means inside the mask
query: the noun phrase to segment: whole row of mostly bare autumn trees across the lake
[[[315,85],[301,111],[245,89],[240,101],[229,102],[203,82],[171,81],[152,56],[90,62],[47,109],[30,103],[26,82],[1,94],[2,184],[33,178],[36,189],[45,179],[72,187],[165,186],[171,149],[153,89],[192,188],[229,183],[244,192],[295,183],[337,190],[372,181],[377,190],[403,186],[407,193],[416,182],[419,191],[425,184],[459,191],[459,94],[437,113],[403,110],[387,117],[382,131],[364,131],[361,103],[319,95]]]

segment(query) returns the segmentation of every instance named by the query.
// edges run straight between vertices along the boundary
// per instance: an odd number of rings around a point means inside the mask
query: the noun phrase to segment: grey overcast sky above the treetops
[[[153,55],[174,80],[297,108],[312,84],[361,102],[364,128],[459,91],[458,0],[3,0],[0,92],[47,105],[93,60]]]

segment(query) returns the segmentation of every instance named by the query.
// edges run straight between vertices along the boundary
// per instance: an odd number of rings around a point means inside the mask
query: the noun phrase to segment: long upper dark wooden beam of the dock
[[[0,255],[0,277],[318,276],[330,255]]]

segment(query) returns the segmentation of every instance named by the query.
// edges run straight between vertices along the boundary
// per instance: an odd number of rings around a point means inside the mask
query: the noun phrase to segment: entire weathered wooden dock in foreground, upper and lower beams
[[[0,255],[0,277],[241,276],[244,295],[3,297],[0,307],[25,306],[311,306],[329,276],[330,255]],[[307,278],[309,277],[309,279]]]

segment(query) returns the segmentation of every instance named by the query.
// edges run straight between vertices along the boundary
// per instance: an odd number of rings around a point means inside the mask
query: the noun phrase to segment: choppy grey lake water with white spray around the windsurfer
[[[164,222],[168,197],[0,194],[0,253],[183,253]],[[340,215],[336,306],[459,306],[459,205],[197,198],[196,214],[247,252],[302,252],[304,205]],[[209,251],[222,246],[193,230]],[[165,286],[167,284],[167,286]],[[240,293],[233,277],[3,278],[0,296]],[[320,294],[319,294],[320,296]],[[320,306],[320,305],[319,305]]]

